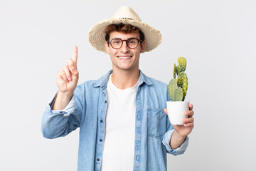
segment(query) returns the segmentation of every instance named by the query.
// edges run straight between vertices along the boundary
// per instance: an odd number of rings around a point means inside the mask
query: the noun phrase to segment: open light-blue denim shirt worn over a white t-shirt
[[[170,100],[168,86],[139,72],[134,170],[167,170],[166,152],[183,154],[188,146],[188,137],[180,147],[171,149],[169,142],[174,128],[164,113],[166,101]],[[55,101],[53,98],[43,113],[42,133],[45,138],[63,137],[80,128],[78,171],[100,171],[105,140],[107,81],[111,73],[112,70],[97,81],[86,81],[77,86],[73,98],[63,110],[51,109]]]

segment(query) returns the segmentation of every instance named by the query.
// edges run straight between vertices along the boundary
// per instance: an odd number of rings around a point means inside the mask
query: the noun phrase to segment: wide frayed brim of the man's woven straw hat
[[[140,21],[135,21],[131,19],[105,19],[99,23],[92,26],[89,31],[89,41],[97,51],[105,51],[105,28],[110,24],[131,24],[139,28],[145,36],[146,48],[145,52],[151,51],[161,43],[161,33],[160,31],[152,28],[148,24],[144,24]]]

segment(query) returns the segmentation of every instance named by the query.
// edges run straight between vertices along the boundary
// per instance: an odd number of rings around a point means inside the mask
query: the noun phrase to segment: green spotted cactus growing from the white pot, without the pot
[[[174,78],[171,79],[168,90],[172,101],[185,100],[188,90],[188,77],[184,71],[186,70],[186,59],[183,57],[178,58],[178,66],[174,63]],[[178,78],[176,78],[176,74]]]

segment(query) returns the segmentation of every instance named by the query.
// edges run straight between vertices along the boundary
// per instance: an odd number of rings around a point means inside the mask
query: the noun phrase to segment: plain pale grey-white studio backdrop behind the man
[[[48,140],[41,134],[55,78],[78,46],[79,84],[112,68],[88,42],[93,24],[131,6],[161,31],[140,69],[169,83],[173,63],[187,59],[195,128],[168,170],[256,170],[256,1],[1,1],[0,170],[77,170],[78,133]]]

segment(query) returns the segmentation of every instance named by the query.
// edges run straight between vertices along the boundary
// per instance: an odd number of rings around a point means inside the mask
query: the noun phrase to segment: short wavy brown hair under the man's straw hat
[[[144,39],[145,39],[144,33],[142,33],[142,31],[139,28],[132,26],[131,24],[120,23],[120,24],[110,24],[110,26],[107,26],[107,28],[105,28],[105,33],[106,33],[105,40],[106,41],[110,40],[110,33],[112,31],[119,31],[122,33],[139,33],[139,38],[142,41],[144,41]]]

